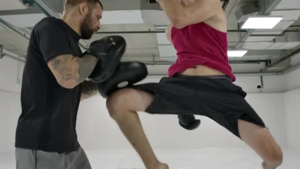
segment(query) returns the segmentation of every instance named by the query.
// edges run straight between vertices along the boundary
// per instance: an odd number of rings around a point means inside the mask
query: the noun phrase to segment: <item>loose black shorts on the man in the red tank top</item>
[[[151,114],[206,116],[239,136],[237,120],[265,127],[247,103],[247,93],[228,76],[163,77],[159,83],[139,84],[136,89],[155,95],[146,112]]]

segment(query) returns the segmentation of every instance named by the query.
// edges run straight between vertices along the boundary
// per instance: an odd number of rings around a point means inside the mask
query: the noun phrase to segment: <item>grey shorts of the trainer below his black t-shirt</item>
[[[16,169],[92,169],[83,149],[54,153],[16,148]]]

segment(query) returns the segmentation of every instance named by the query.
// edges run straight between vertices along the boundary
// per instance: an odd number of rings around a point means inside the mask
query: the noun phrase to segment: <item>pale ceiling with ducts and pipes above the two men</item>
[[[0,45],[21,57],[26,56],[34,25],[47,15],[60,17],[64,5],[64,0],[27,0],[31,4],[26,5],[20,0],[3,1],[7,7],[0,7]],[[104,6],[102,28],[91,40],[80,41],[82,49],[105,36],[121,35],[128,44],[123,61],[144,62],[150,75],[165,75],[176,60],[176,51],[165,38],[164,29],[170,22],[159,5],[148,4],[147,0],[101,2]],[[252,6],[257,10],[252,13],[254,15],[281,15],[284,18],[271,30],[239,29],[236,12],[244,12],[243,16],[246,16],[249,14],[246,9]],[[224,9],[228,46],[230,49],[248,49],[243,57],[229,58],[234,73],[281,72],[294,65],[290,58],[295,56],[291,56],[291,52],[298,53],[300,47],[300,9],[295,6],[300,6],[299,0],[228,0]]]

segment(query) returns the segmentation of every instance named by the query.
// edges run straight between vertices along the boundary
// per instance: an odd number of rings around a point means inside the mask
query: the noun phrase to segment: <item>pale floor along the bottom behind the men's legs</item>
[[[85,150],[93,169],[145,169],[133,150]],[[300,169],[300,153],[283,148],[278,169]],[[156,150],[170,169],[262,169],[261,159],[248,148]],[[0,154],[0,169],[15,169],[14,154]]]

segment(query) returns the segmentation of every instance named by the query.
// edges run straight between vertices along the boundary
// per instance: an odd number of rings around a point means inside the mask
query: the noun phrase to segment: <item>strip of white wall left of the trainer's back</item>
[[[22,80],[23,69],[22,62],[18,64],[7,57],[0,59],[0,152],[14,150],[15,129],[21,113],[21,85],[17,82]]]

